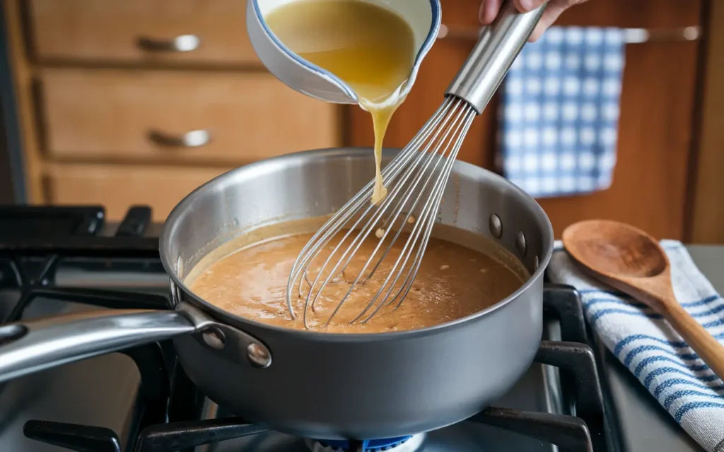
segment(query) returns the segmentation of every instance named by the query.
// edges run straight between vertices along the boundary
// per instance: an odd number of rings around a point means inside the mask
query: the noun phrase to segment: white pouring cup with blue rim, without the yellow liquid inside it
[[[256,55],[271,74],[300,93],[321,101],[359,103],[357,94],[340,77],[298,56],[269,30],[264,20],[266,14],[292,1],[305,0],[248,0],[246,29]],[[390,9],[410,25],[416,56],[410,77],[400,92],[401,96],[407,95],[415,82],[422,60],[437,38],[441,18],[439,0],[364,1]]]

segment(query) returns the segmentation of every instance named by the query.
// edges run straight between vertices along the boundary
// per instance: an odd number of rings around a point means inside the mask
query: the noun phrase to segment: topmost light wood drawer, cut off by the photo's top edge
[[[261,64],[245,0],[31,0],[28,9],[41,60]]]

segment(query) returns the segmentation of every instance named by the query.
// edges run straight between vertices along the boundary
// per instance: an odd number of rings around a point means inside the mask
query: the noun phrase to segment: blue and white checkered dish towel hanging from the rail
[[[496,160],[533,197],[610,187],[625,30],[552,27],[527,43],[502,86]]]

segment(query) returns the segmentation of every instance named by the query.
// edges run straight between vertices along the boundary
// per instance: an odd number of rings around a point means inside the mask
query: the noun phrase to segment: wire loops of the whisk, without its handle
[[[351,283],[348,290],[324,323],[329,325],[353,291],[358,289],[360,281],[361,285],[368,283],[379,270],[403,234],[405,226],[413,223],[395,263],[389,270],[385,268],[387,274],[382,285],[350,323],[368,322],[382,307],[392,305],[397,299],[399,301],[393,309],[400,306],[411,290],[420,268],[452,165],[475,116],[476,111],[466,101],[447,96],[413,140],[382,171],[384,184],[390,189],[387,196],[376,204],[369,202],[374,189],[374,180],[369,182],[313,235],[292,265],[287,285],[287,307],[292,318],[296,318],[292,307],[292,287],[296,285],[296,280],[299,280],[298,297],[305,297],[303,322],[305,327],[309,328],[308,311],[311,309],[312,312],[316,312],[316,303],[321,299],[322,292],[330,283],[334,283],[335,278],[341,278],[342,281],[347,279],[345,272],[348,266],[358,255],[362,244],[366,242],[372,231],[375,231],[379,240],[361,270],[357,272],[355,269],[356,275],[349,278],[348,281]],[[418,218],[415,221],[413,213],[417,212],[420,205]],[[344,231],[345,229],[347,230]],[[392,239],[387,243],[384,252],[379,255],[392,229],[396,231],[392,234]],[[332,251],[324,259],[324,263],[321,267],[314,268],[316,275],[308,276],[313,261],[322,250],[327,249],[329,242],[341,231],[344,231],[342,238],[334,247],[330,247]],[[339,252],[341,255],[333,260]],[[371,265],[378,255],[376,263]],[[371,270],[366,274],[366,270],[370,267]],[[402,283],[395,291],[400,280]],[[305,282],[308,285],[306,294],[303,290]],[[390,298],[393,291],[394,296]]]

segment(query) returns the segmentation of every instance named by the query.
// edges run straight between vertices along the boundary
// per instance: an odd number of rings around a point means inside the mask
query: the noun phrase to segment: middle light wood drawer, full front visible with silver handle
[[[50,69],[42,80],[56,158],[238,164],[340,141],[338,106],[267,73]]]

